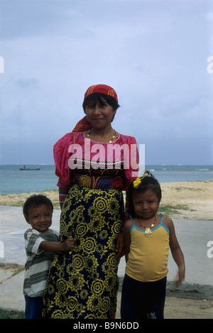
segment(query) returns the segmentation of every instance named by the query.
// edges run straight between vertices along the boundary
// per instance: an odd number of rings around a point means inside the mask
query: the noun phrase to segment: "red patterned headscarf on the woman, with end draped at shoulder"
[[[114,97],[116,99],[117,103],[119,102],[116,91],[107,86],[106,84],[95,84],[87,89],[87,92],[84,94],[84,99],[87,98],[90,94],[94,94],[95,92],[100,92],[101,94],[107,94],[111,97]],[[88,129],[91,129],[92,126],[89,124],[89,121],[87,120],[87,116],[84,116],[78,123],[75,125],[75,128],[72,130],[73,132],[84,132]]]

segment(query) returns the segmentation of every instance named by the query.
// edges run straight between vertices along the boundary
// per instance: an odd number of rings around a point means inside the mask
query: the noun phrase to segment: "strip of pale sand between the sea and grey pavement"
[[[174,219],[213,220],[213,180],[163,182],[160,187],[159,212]],[[49,197],[54,209],[60,209],[58,190],[0,195],[0,206],[22,207],[29,196],[38,193]]]

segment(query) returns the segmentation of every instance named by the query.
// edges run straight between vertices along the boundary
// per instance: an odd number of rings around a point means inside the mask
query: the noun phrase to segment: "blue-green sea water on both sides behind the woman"
[[[55,165],[0,165],[0,194],[58,190]],[[146,165],[159,182],[213,180],[213,165]]]

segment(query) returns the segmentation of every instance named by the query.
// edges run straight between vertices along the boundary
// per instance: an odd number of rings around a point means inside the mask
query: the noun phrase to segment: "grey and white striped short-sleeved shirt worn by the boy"
[[[41,241],[58,243],[58,231],[48,229],[39,232],[28,229],[24,234],[26,249],[25,277],[23,282],[23,294],[30,297],[42,297],[48,277],[52,252],[39,249]]]

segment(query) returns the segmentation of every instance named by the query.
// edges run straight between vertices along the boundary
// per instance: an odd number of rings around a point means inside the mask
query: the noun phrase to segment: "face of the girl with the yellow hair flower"
[[[159,200],[153,190],[133,193],[133,207],[142,219],[151,219],[158,212]]]

